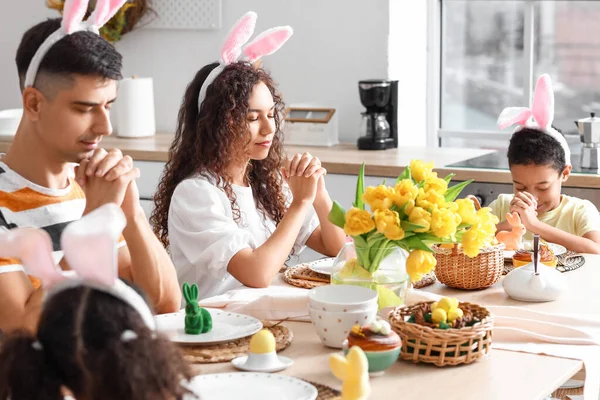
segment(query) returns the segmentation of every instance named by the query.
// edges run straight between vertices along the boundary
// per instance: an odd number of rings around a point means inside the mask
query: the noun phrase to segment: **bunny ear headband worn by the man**
[[[98,0],[96,9],[92,15],[83,21],[87,12],[88,2],[89,0],[65,0],[60,28],[48,36],[35,52],[29,63],[29,68],[27,68],[25,87],[33,86],[42,60],[56,42],[67,35],[79,31],[89,31],[99,34],[100,28],[119,11],[127,0]]]

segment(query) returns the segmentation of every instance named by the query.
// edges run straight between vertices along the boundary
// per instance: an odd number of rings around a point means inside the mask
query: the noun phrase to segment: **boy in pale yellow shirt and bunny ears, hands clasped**
[[[600,253],[600,216],[588,200],[561,194],[571,173],[571,152],[552,126],[554,92],[548,75],[536,85],[531,109],[506,108],[500,129],[518,125],[508,147],[514,194],[501,194],[490,208],[500,218],[498,230],[510,230],[506,214],[516,212],[527,229],[525,239],[544,240],[580,253]]]

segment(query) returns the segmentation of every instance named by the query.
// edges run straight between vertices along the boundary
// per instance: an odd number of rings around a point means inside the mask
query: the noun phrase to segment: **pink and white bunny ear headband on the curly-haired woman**
[[[225,43],[221,48],[221,59],[219,66],[213,69],[206,77],[206,80],[200,88],[198,95],[198,111],[202,106],[202,102],[206,98],[206,90],[211,83],[214,82],[217,76],[226,66],[233,64],[236,61],[245,61],[253,63],[259,60],[262,56],[268,56],[275,53],[288,39],[292,36],[293,30],[290,26],[278,26],[267,29],[257,35],[254,40],[246,44],[254,33],[257,15],[253,11],[247,12],[240,18],[227,34]]]

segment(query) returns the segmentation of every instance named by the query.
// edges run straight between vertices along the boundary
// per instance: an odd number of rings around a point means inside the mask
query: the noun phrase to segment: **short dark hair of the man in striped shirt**
[[[60,28],[60,23],[60,18],[48,19],[23,35],[15,59],[21,90],[35,52],[48,36]],[[122,78],[121,69],[122,56],[112,44],[92,32],[81,31],[67,35],[48,50],[40,64],[34,86],[38,88],[45,74],[67,79],[78,74],[119,80]]]

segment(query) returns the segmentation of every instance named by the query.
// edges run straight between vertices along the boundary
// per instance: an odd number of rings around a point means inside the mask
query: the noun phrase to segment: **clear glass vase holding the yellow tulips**
[[[406,252],[398,246],[356,247],[346,243],[333,263],[331,283],[357,285],[378,294],[379,309],[404,304],[411,280]]]

